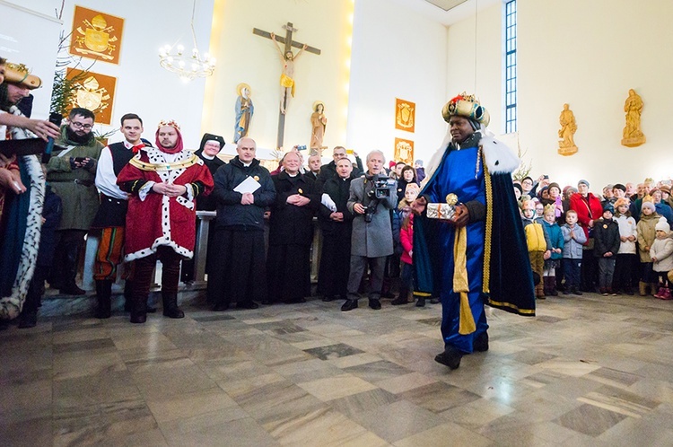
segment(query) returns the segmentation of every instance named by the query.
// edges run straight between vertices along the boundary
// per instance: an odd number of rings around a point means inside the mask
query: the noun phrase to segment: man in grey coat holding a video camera
[[[383,174],[385,156],[380,151],[367,154],[367,172],[351,182],[348,211],[353,213],[351,235],[351,267],[348,276],[348,297],[342,311],[352,311],[360,297],[357,293],[364,268],[369,263],[371,282],[369,307],[380,309],[380,291],[386,257],[393,252],[389,211],[397,205],[397,182]]]

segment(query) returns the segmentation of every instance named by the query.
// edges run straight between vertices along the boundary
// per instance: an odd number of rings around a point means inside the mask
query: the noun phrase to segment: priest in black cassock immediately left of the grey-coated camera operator
[[[320,191],[327,194],[331,202],[323,200],[318,211],[322,231],[318,292],[323,295],[324,302],[333,301],[337,295],[342,300],[346,299],[351,265],[353,214],[346,204],[351,180],[354,179],[353,163],[342,158],[337,161],[336,167],[337,175],[327,180]]]

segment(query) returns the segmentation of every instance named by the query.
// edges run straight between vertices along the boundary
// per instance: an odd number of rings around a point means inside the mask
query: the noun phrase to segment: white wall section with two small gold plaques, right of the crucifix
[[[446,41],[444,25],[404,5],[355,1],[347,147],[390,160],[397,136],[430,159],[445,134]],[[415,133],[396,130],[396,97],[415,102]]]

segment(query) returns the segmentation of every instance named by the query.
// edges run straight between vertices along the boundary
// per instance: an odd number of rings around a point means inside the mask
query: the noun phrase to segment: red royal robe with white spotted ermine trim
[[[166,155],[156,148],[144,148],[119,172],[118,185],[132,194],[128,200],[127,213],[127,261],[147,257],[160,245],[169,246],[188,259],[194,254],[197,232],[195,198],[199,194],[210,193],[213,176],[204,162],[189,151],[178,153],[177,158],[170,163],[170,155]],[[192,157],[196,160],[192,160]],[[138,162],[152,163],[160,169],[145,171],[148,168],[139,167]],[[180,162],[186,163],[176,167]],[[161,168],[170,164],[173,165],[170,170]],[[184,185],[188,188],[188,194],[168,197],[150,192],[149,186],[134,187],[146,182]]]

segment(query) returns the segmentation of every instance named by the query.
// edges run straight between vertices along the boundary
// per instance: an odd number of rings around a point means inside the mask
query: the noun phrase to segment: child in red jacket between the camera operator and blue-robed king
[[[414,249],[414,213],[411,212],[411,204],[418,197],[420,190],[421,188],[417,184],[408,183],[406,185],[405,197],[399,202],[398,210],[396,211],[402,222],[399,230],[399,244],[402,247],[402,255],[400,256],[402,260],[402,281],[399,285],[398,297],[390,302],[393,306],[409,302],[409,291],[413,290],[414,287],[414,267],[412,267],[411,260]],[[421,302],[421,300],[423,300],[422,304],[416,304],[419,307],[425,304],[424,298],[419,298],[418,302]]]

